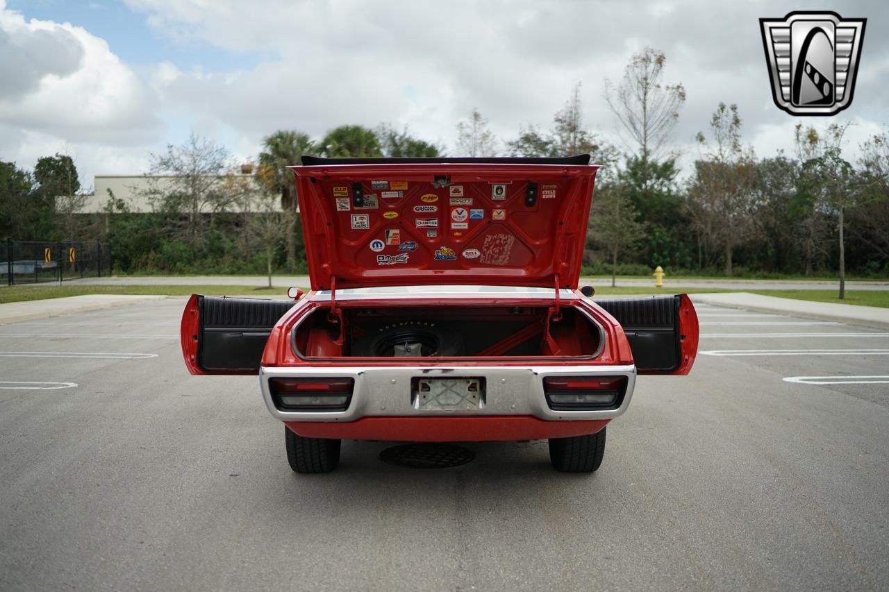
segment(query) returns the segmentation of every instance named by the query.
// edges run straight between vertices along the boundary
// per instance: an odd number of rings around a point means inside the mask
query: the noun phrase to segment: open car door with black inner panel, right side
[[[698,315],[688,295],[596,303],[621,324],[640,374],[687,374],[698,353]]]

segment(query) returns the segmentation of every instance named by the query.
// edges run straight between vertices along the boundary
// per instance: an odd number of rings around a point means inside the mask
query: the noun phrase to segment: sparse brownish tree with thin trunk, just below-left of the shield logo
[[[732,276],[732,254],[736,244],[753,230],[752,197],[756,166],[751,148],[741,145],[738,106],[719,103],[710,119],[713,144],[698,133],[706,158],[694,163],[689,189],[689,212],[699,236],[723,248],[725,275]]]

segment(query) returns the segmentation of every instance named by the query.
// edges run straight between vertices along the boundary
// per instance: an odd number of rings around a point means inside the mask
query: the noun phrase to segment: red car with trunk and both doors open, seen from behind
[[[687,296],[578,290],[597,166],[568,158],[304,157],[311,292],[295,304],[194,295],[193,374],[257,374],[294,471],[340,440],[549,440],[596,470],[637,374],[686,374]]]

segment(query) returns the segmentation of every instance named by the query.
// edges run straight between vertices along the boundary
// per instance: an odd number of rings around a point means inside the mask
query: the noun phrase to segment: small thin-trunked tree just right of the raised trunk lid
[[[593,200],[589,240],[603,244],[612,258],[612,286],[617,278],[617,260],[621,251],[637,244],[645,236],[645,225],[621,184],[597,189]]]

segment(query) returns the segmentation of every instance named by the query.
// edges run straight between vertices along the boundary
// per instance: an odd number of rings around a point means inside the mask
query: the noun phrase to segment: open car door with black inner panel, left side
[[[180,340],[192,374],[259,374],[262,350],[292,301],[192,294]]]

